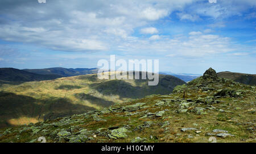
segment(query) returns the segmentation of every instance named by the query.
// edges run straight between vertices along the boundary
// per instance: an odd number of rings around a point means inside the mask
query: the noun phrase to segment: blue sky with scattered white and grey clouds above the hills
[[[256,1],[0,1],[0,67],[92,68],[110,55],[256,74]]]

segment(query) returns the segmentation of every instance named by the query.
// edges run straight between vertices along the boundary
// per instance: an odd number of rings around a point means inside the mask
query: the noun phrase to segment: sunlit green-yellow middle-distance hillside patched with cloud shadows
[[[159,85],[147,86],[147,80],[98,80],[95,74],[21,84],[3,82],[0,127],[84,113],[152,94],[168,94],[181,84],[182,80],[168,75],[160,75]]]

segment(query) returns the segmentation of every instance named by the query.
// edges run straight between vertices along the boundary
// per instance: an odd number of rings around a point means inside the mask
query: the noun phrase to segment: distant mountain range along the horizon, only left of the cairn
[[[2,68],[0,69],[0,80],[8,82],[32,82],[42,80],[53,80],[62,77],[96,74],[97,68],[77,68],[77,69],[66,69],[63,67],[53,67],[48,69],[13,69],[13,68]],[[176,78],[189,82],[199,76],[200,74],[174,74],[172,72],[159,72],[163,75],[172,75]]]

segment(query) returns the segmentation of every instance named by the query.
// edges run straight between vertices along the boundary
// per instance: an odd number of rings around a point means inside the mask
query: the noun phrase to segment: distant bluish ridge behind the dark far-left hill
[[[96,74],[98,69],[92,68],[77,68],[77,69],[66,69],[63,67],[53,67],[48,69],[24,69],[24,71],[32,72],[35,74],[42,74],[42,75],[59,75],[62,77],[68,76],[77,76],[77,75],[86,75],[86,74]]]

